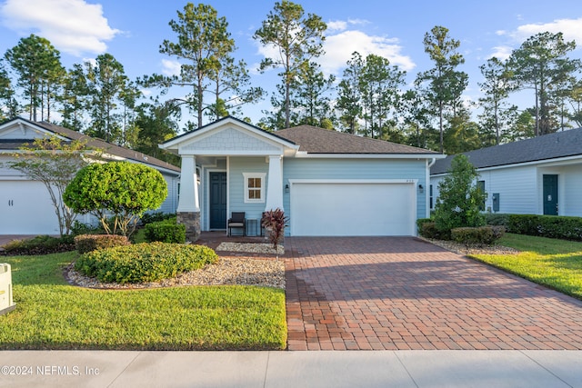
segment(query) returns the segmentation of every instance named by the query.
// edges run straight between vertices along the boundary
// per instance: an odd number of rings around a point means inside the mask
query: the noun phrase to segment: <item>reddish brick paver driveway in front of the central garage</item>
[[[412,237],[287,237],[289,350],[582,349],[582,302]]]

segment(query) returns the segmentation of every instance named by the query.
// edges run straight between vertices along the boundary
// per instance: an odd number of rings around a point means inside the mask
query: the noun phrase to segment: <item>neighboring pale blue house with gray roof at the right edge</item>
[[[465,154],[487,193],[485,211],[582,216],[582,128]],[[433,205],[453,157],[430,170]]]

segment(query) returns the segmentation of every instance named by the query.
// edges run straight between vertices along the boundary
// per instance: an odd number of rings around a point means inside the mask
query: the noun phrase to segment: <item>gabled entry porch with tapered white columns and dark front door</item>
[[[283,157],[298,149],[232,117],[160,147],[182,157],[177,219],[191,241],[201,230],[226,229],[232,212],[259,220],[266,210],[283,209]]]

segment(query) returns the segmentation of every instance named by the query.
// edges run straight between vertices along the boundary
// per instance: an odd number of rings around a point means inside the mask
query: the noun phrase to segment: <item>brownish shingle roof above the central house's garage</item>
[[[274,132],[307,154],[438,154],[422,148],[369,137],[346,134],[311,125],[299,125]]]

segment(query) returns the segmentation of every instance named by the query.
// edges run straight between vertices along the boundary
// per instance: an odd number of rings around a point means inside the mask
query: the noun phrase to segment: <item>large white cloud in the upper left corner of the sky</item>
[[[105,53],[105,42],[120,33],[109,26],[101,5],[84,0],[6,0],[0,20],[20,34],[40,35],[58,50],[77,56]]]

